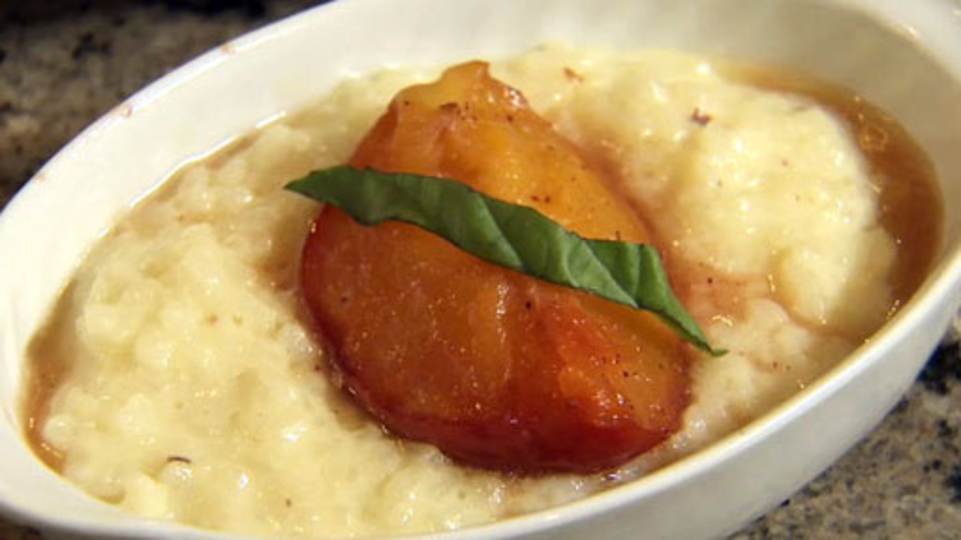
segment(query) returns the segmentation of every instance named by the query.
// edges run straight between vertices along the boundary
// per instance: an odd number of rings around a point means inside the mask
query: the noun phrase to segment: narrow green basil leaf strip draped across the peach
[[[343,165],[311,172],[286,188],[342,209],[362,225],[403,221],[499,266],[653,311],[702,351],[726,353],[708,345],[647,244],[581,238],[535,209],[443,178]]]

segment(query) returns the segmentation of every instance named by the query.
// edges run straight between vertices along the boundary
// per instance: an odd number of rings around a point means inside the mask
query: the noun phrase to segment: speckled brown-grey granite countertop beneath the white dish
[[[231,37],[314,3],[0,2],[0,207],[125,96]],[[954,345],[932,357],[868,438],[735,538],[961,538],[959,451],[961,357]],[[36,537],[0,519],[0,540]]]

